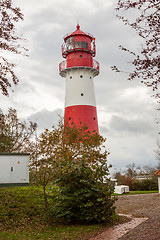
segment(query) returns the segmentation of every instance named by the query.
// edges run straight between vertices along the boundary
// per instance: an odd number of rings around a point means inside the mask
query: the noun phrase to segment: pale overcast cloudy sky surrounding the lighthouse
[[[81,30],[96,38],[100,74],[94,78],[100,133],[107,138],[112,171],[135,163],[156,165],[154,149],[158,140],[158,112],[152,92],[139,81],[127,81],[126,73],[115,73],[112,65],[130,71],[130,55],[119,45],[135,50],[139,38],[116,18],[116,0],[13,0],[24,13],[17,24],[29,49],[29,57],[9,55],[18,65],[19,85],[10,97],[0,95],[0,107],[17,109],[18,116],[38,123],[38,131],[51,128],[57,113],[63,115],[65,79],[58,65],[63,36]],[[134,14],[134,13],[130,13]]]

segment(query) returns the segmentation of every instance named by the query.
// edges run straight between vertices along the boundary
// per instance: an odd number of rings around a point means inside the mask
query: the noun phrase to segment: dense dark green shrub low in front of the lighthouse
[[[60,194],[54,208],[56,219],[68,223],[112,222],[115,199],[111,198],[110,181],[97,178],[102,169],[91,169],[85,161],[59,177]],[[103,171],[102,171],[103,172]]]

